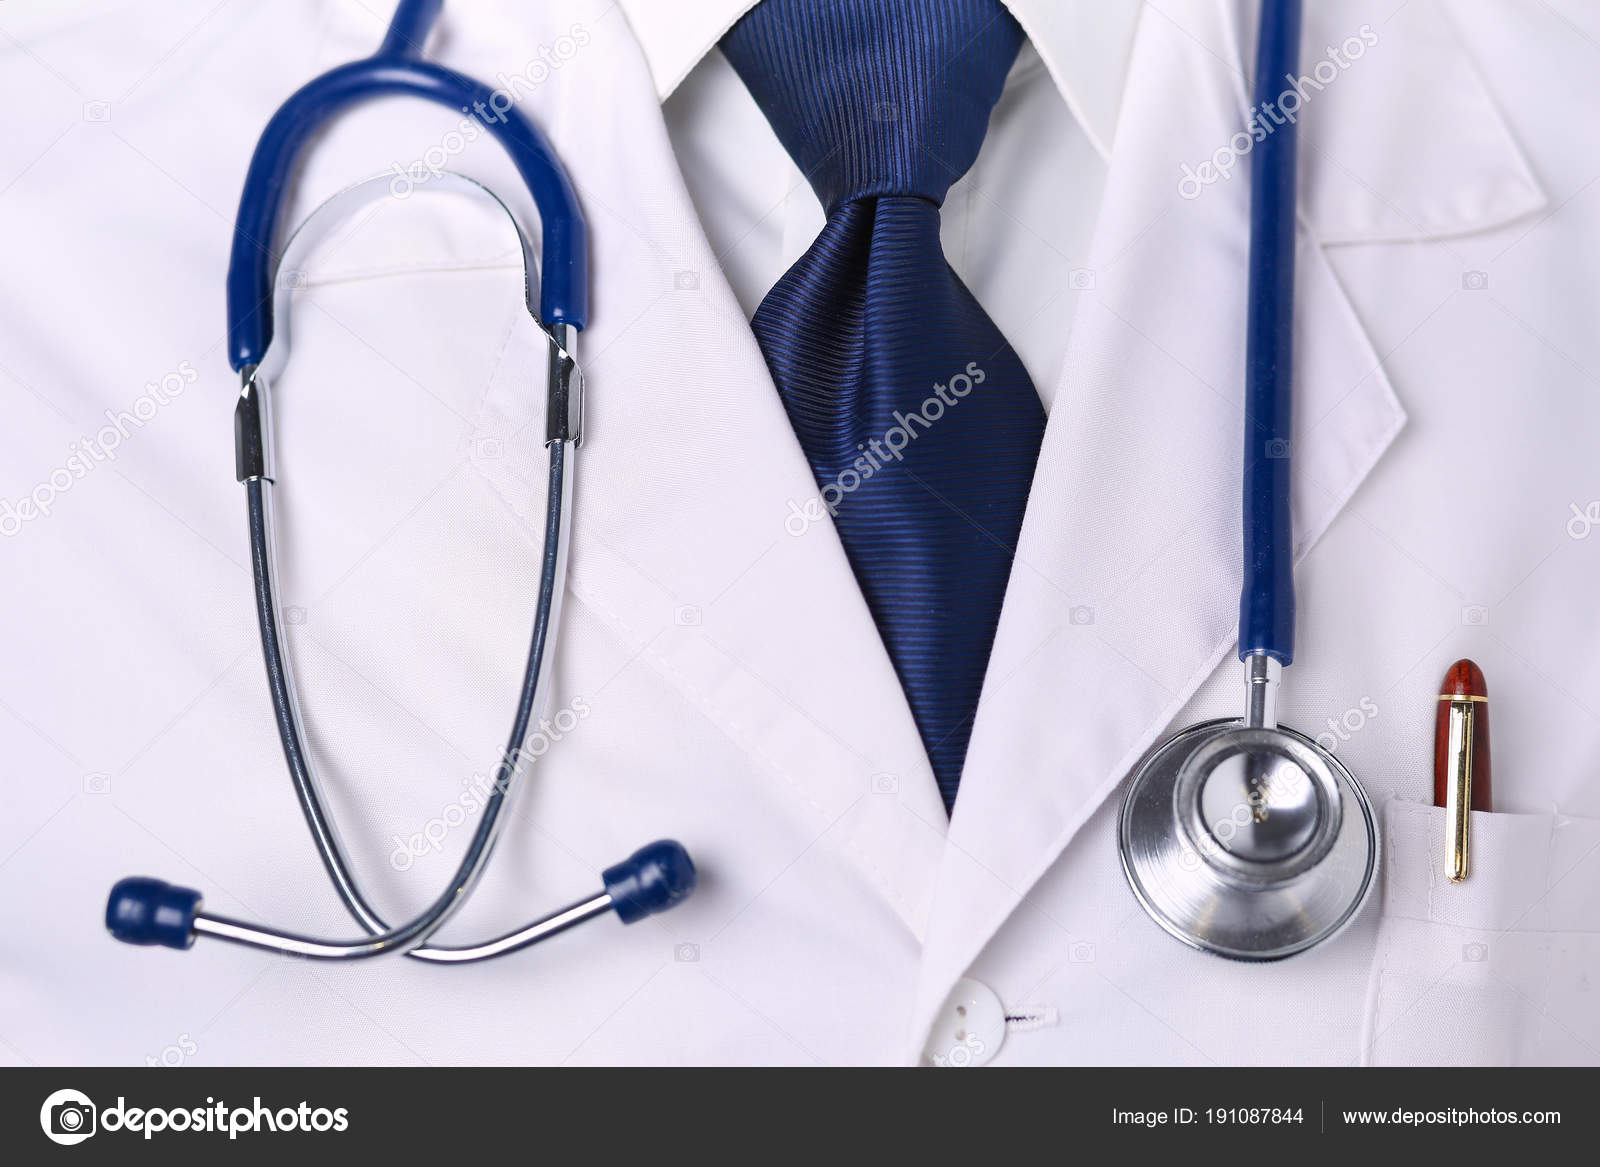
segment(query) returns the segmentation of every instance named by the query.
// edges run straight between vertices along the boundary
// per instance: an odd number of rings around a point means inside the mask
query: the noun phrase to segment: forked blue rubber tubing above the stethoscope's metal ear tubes
[[[482,82],[418,59],[443,0],[402,0],[378,53],[325,72],[267,122],[245,176],[227,267],[227,347],[234,371],[261,363],[272,343],[272,279],[278,223],[294,165],[312,134],[368,98],[422,98],[470,114],[491,104]],[[589,229],[578,194],[544,134],[515,107],[485,128],[510,155],[539,208],[539,319],[581,330],[589,320]]]

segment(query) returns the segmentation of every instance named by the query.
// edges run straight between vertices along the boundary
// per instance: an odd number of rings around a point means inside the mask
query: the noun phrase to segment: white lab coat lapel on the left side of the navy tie
[[[920,935],[947,828],[926,754],[701,231],[638,46],[621,19],[595,22],[592,35],[619,64],[603,85],[571,70],[573,85],[598,88],[563,98],[587,109],[584,141],[565,158],[595,271],[578,346],[574,607],[603,621],[627,660],[654,668],[686,717],[746,749],[750,781],[792,807],[803,845],[838,847]],[[650,197],[603,194],[614,190]],[[501,395],[522,416],[496,424],[531,445],[542,421],[526,397]],[[512,464],[523,461],[488,472]],[[530,485],[507,482],[504,493],[525,499],[517,509],[536,527]],[[715,856],[696,855],[715,879]]]

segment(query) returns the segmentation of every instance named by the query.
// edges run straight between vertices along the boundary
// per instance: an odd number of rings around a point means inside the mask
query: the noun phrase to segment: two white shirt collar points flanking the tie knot
[[[658,96],[666,101],[755,0],[618,0]],[[1144,5],[1104,0],[1006,0],[1067,107],[1102,155],[1122,109],[1133,37]]]

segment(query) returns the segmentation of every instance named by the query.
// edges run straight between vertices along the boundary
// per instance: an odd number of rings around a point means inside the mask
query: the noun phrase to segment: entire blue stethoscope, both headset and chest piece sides
[[[262,928],[202,911],[198,892],[136,877],[112,888],[106,909],[106,924],[118,940],[189,948],[197,936],[216,936],[320,959],[405,952],[424,960],[467,962],[514,952],[608,911],[634,922],[672,908],[694,888],[694,866],[683,847],[654,842],[608,868],[602,874],[602,893],[517,932],[464,948],[426,943],[461,908],[494,845],[506,797],[518,776],[523,738],[536,711],[546,704],[546,663],[554,648],[566,576],[571,466],[582,405],[573,343],[584,327],[587,299],[586,231],[560,162],[515,109],[490,131],[512,155],[542,223],[542,280],[536,279],[531,248],[522,240],[530,274],[528,311],[549,341],[549,498],[539,602],[510,741],[477,831],[450,887],[411,922],[390,927],[366,901],[304,748],[272,563],[267,359],[274,291],[282,288],[277,288],[270,240],[291,165],[310,133],[334,114],[382,94],[427,98],[462,112],[491,101],[488,86],[419,59],[440,6],[442,0],[402,0],[374,56],[318,77],[272,117],[245,179],[227,279],[230,362],[243,383],[235,413],[238,479],[248,495],[256,615],[274,714],[323,866],[368,935],[326,941]],[[1299,29],[1299,0],[1266,0],[1256,59],[1258,104],[1274,101],[1272,86],[1294,74]],[[1278,725],[1275,716],[1280,674],[1294,652],[1290,517],[1294,125],[1275,126],[1254,150],[1245,375],[1245,583],[1238,639],[1245,716],[1192,725],[1144,757],[1123,799],[1118,850],[1134,896],[1168,933],[1218,956],[1270,960],[1328,940],[1355,917],[1373,887],[1378,831],[1371,805],[1350,772],[1315,740]],[[370,192],[373,182],[336,195],[312,218]],[[451,184],[486,194],[459,176],[453,176]],[[299,235],[296,232],[296,239]],[[293,247],[294,239],[285,253]],[[282,258],[278,266],[283,267]],[[531,299],[534,287],[539,288],[538,307]]]

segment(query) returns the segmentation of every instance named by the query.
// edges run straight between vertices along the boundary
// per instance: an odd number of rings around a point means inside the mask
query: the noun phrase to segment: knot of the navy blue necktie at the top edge
[[[762,0],[722,40],[829,215],[870,195],[942,203],[1021,45],[1000,0]]]

